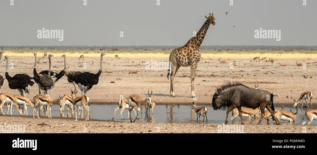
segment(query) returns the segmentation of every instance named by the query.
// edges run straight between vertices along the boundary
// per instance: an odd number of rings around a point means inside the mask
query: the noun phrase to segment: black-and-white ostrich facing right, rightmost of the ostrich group
[[[100,54],[100,69],[97,74],[90,73],[90,72],[83,72],[79,74],[72,74],[72,73],[66,73],[67,78],[69,78],[71,81],[73,81],[73,84],[78,84],[79,89],[81,90],[81,95],[86,95],[87,91],[89,91],[93,85],[98,84],[99,76],[102,71],[102,57],[104,56],[104,53]],[[76,87],[75,87],[76,89]]]

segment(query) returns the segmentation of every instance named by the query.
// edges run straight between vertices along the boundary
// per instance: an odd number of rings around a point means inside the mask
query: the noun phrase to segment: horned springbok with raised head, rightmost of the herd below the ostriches
[[[70,89],[72,91],[72,89]],[[77,115],[77,108],[79,106],[82,106],[82,111],[84,111],[84,108],[87,110],[87,118],[86,121],[89,121],[89,98],[87,96],[78,96],[77,98],[75,98],[75,94],[77,93],[77,91],[72,91],[72,100],[73,100],[73,109],[72,111],[74,111],[74,107],[75,107],[75,116],[76,116],[76,121],[78,121],[78,115]]]

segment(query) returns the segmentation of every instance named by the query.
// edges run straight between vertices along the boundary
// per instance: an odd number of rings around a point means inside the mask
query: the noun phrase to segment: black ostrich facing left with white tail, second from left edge
[[[21,96],[26,96],[25,93],[29,93],[31,91],[31,86],[35,83],[32,77],[29,77],[26,74],[16,74],[13,77],[10,77],[8,74],[9,70],[9,58],[5,56],[7,60],[7,69],[5,71],[5,78],[7,78],[10,89],[17,89],[20,91]]]

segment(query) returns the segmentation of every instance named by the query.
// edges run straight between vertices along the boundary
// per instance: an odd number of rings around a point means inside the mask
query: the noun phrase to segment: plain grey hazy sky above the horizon
[[[0,0],[0,45],[179,45],[214,13],[202,45],[317,45],[317,1]],[[229,12],[226,15],[224,12]],[[233,27],[235,26],[235,27]],[[64,41],[37,30],[64,30]],[[281,30],[281,41],[254,30]],[[124,37],[120,37],[120,31]],[[131,43],[132,42],[132,43]]]

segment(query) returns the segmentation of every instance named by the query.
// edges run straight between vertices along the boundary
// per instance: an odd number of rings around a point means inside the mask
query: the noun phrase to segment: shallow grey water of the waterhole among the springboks
[[[102,119],[102,120],[112,120],[114,110],[117,108],[118,105],[97,105],[97,104],[90,104],[90,111],[89,111],[89,118],[91,119]],[[226,111],[221,110],[213,110],[211,106],[205,106],[208,109],[207,117],[208,117],[208,124],[223,124],[226,119]],[[278,110],[285,110],[290,111],[291,108],[275,108]],[[6,111],[6,107],[3,107],[3,111]],[[113,120],[115,121],[121,121],[120,111],[122,109],[118,109],[115,114],[115,118]],[[152,109],[151,109],[152,110]],[[288,122],[281,120],[282,125],[301,125],[303,120],[303,114],[308,110],[308,108],[305,109],[298,109],[298,113],[295,119],[295,122]],[[292,111],[296,111],[296,108],[292,108]],[[168,105],[167,107],[165,105],[155,105],[153,110],[153,118],[152,118],[152,112],[150,111],[150,116],[147,116],[145,113],[145,109],[143,108],[142,111],[142,118],[143,122],[156,122],[156,123],[197,123],[197,114],[194,110],[191,109],[191,105],[180,105],[178,106],[172,106]],[[132,111],[132,119],[134,120],[135,114]],[[10,111],[9,111],[10,114]],[[16,108],[13,107],[12,109],[13,115],[19,115]],[[87,114],[87,111],[86,111]],[[28,115],[33,115],[32,108],[28,106]],[[75,115],[75,113],[74,113]],[[41,115],[42,116],[42,115]],[[67,106],[64,107],[64,117],[67,116]],[[59,105],[54,104],[52,107],[52,117],[60,117],[59,112]],[[84,120],[81,118],[81,112],[79,115],[79,120]],[[128,119],[128,110],[124,110],[122,112],[123,121],[127,121]],[[228,116],[228,124],[241,124],[241,118],[240,116],[237,116],[234,120],[230,120],[232,117],[231,112]],[[141,114],[139,114],[138,118],[141,118]],[[258,123],[260,119],[251,118],[251,121],[249,121],[249,118],[244,118],[244,124],[252,124],[255,125]],[[141,119],[137,119],[136,122],[141,122]],[[198,123],[203,123],[203,117],[200,117],[200,121],[198,118]],[[207,123],[206,120],[204,123]],[[308,123],[308,122],[307,122]],[[307,125],[306,123],[306,125]],[[262,120],[261,124],[267,124],[267,121],[265,119]],[[273,120],[270,120],[270,124],[273,124]],[[317,125],[317,120],[313,120],[311,125]]]

